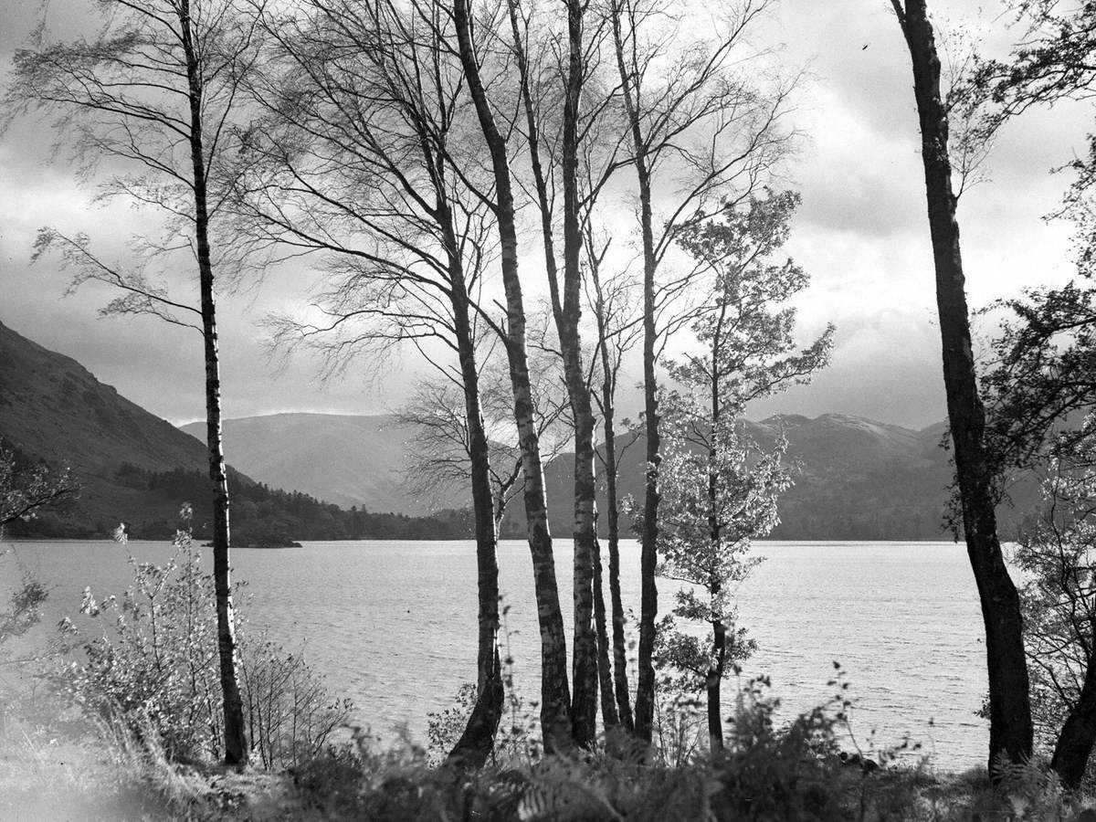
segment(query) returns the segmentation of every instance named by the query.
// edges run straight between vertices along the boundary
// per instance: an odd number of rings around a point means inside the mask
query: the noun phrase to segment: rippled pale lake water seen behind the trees
[[[75,615],[81,592],[121,593],[127,556],[160,562],[167,543],[14,543],[0,585],[20,567],[53,586],[48,618]],[[209,549],[204,549],[208,552]],[[767,674],[781,712],[834,694],[841,663],[854,700],[852,730],[867,747],[904,735],[941,769],[984,762],[986,693],[981,614],[966,551],[950,543],[758,543],[763,562],[739,587],[741,624],[758,651],[743,677]],[[204,557],[205,559],[205,557]],[[556,561],[570,625],[571,546]],[[212,558],[206,560],[212,568]],[[539,690],[538,639],[528,546],[504,541],[499,566],[516,686]],[[248,583],[246,615],[287,648],[302,648],[330,688],[351,697],[356,719],[392,739],[406,723],[425,741],[426,715],[475,681],[476,557],[471,541],[307,543],[287,550],[236,550],[235,579]],[[621,547],[625,608],[639,610],[639,548]],[[660,585],[660,610],[673,585]],[[94,629],[94,626],[91,626]],[[632,678],[635,683],[635,678]],[[728,694],[735,689],[729,682]]]

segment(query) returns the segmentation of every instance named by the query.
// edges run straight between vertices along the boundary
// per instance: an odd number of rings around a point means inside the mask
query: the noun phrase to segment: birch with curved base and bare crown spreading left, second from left
[[[241,209],[260,242],[287,256],[319,255],[327,272],[318,316],[276,321],[275,338],[287,350],[319,351],[329,374],[355,354],[376,363],[392,346],[412,346],[461,397],[479,639],[477,701],[450,758],[476,767],[493,749],[503,703],[479,355],[504,331],[481,306],[495,217],[471,139],[468,84],[448,48],[453,23],[434,3],[312,0],[265,26],[279,70],[255,90],[270,127],[250,135]]]

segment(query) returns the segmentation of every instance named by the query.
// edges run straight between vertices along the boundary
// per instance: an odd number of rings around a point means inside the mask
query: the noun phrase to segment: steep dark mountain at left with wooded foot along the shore
[[[286,443],[295,439],[293,431],[275,429],[274,435]],[[340,435],[349,436],[345,431]],[[130,536],[160,539],[174,533],[183,502],[193,503],[195,535],[209,536],[213,503],[204,443],[122,397],[71,357],[3,324],[0,441],[19,461],[70,468],[82,486],[80,499],[65,510],[10,525],[13,536],[103,537],[125,522]],[[378,450],[384,450],[380,445]],[[316,465],[310,455],[295,454],[301,467]],[[383,456],[397,459],[395,452]],[[228,473],[237,547],[286,545],[294,539],[469,535],[463,512],[409,517],[343,511],[299,491],[260,484],[231,467]]]

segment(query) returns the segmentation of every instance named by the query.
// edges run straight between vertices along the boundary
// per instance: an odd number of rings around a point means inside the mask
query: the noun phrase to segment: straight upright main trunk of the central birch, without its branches
[[[594,556],[597,523],[594,484],[594,414],[582,367],[582,235],[579,227],[579,104],[582,94],[582,4],[567,0],[569,58],[563,101],[563,289],[559,343],[574,419],[574,646],[571,727],[574,743],[596,741],[597,644],[594,632]],[[604,605],[603,605],[604,610]],[[604,617],[604,615],[603,615]],[[604,618],[603,618],[604,621]]]

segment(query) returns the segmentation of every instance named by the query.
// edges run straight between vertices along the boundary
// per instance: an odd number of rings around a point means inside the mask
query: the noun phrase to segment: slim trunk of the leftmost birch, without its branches
[[[202,137],[201,66],[191,39],[190,4],[181,13],[183,48],[186,54],[191,115],[191,161],[194,171],[194,240],[202,299],[202,336],[205,342],[206,446],[209,479],[213,482],[213,575],[217,600],[217,650],[225,716],[225,764],[243,767],[248,763],[248,738],[243,722],[243,700],[237,675],[236,625],[232,613],[232,583],[229,578],[228,476],[221,438],[220,362],[217,353],[217,312],[213,293],[213,262],[209,254],[209,212]]]

